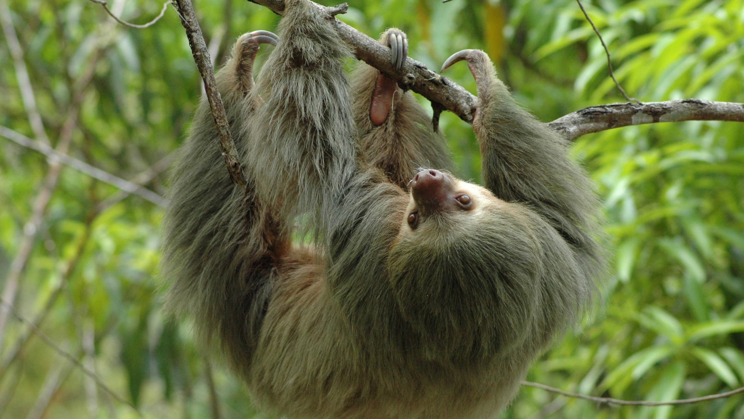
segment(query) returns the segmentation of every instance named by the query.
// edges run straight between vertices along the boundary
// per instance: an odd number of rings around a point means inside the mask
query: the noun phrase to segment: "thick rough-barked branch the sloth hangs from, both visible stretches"
[[[248,0],[283,14],[283,0]],[[318,12],[326,9],[312,3]],[[354,48],[359,60],[379,69],[382,74],[398,81],[400,86],[423,95],[434,104],[440,104],[472,123],[475,112],[474,95],[449,78],[438,75],[426,68],[423,63],[408,57],[403,69],[396,71],[390,63],[390,49],[376,40],[335,19],[339,37]],[[641,104],[607,104],[577,110],[548,123],[548,126],[562,133],[569,140],[577,139],[587,133],[596,133],[628,125],[652,124],[655,122],[682,121],[735,121],[744,122],[744,104],[731,102],[711,102],[699,99],[681,101],[649,102]]]

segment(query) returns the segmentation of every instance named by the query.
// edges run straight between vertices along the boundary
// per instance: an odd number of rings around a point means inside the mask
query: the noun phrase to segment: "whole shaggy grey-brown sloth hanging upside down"
[[[411,92],[365,64],[349,82],[333,16],[285,3],[278,36],[243,35],[217,74],[245,190],[196,110],[164,218],[167,307],[269,415],[495,417],[596,294],[591,182],[477,50],[443,69],[475,78],[484,184],[453,176]],[[380,41],[403,67],[405,34]]]

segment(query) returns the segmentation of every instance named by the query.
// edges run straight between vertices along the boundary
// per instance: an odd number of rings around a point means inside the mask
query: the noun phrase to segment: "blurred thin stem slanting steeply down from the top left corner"
[[[13,28],[13,19],[11,19],[10,7],[8,7],[6,0],[0,0],[0,25],[5,35],[5,42],[7,42],[8,49],[10,49],[10,55],[13,56],[13,66],[16,67],[18,88],[21,90],[23,107],[25,107],[28,114],[28,122],[31,124],[33,135],[36,136],[36,139],[48,145],[49,138],[44,129],[42,116],[36,108],[36,98],[33,94],[31,78],[28,76],[28,68],[23,60],[23,48],[21,47],[21,42],[18,40],[18,35],[16,35],[16,29]]]

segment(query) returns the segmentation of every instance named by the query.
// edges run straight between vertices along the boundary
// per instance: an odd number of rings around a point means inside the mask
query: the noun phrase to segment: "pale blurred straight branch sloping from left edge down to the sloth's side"
[[[108,171],[103,171],[100,168],[91,166],[88,163],[83,162],[83,160],[77,160],[76,158],[70,157],[67,154],[62,154],[59,151],[54,150],[54,148],[51,148],[50,146],[45,145],[42,142],[33,141],[33,139],[30,139],[21,133],[17,133],[10,128],[0,126],[0,136],[4,136],[5,138],[10,139],[10,141],[16,142],[16,144],[39,151],[39,153],[44,154],[45,156],[55,157],[62,163],[65,163],[66,165],[71,166],[72,168],[75,168],[79,171],[82,171],[83,173],[88,174],[90,177],[94,177],[95,179],[105,183],[109,183],[109,185],[116,186],[117,188],[129,192],[130,194],[139,195],[155,205],[159,205],[160,207],[167,206],[167,200],[165,198],[161,197],[153,191],[150,191],[149,189],[146,189],[139,185],[135,185],[135,183],[129,182],[129,180],[122,179],[121,177],[118,177],[115,174],[111,174]]]

